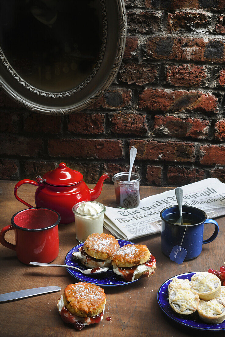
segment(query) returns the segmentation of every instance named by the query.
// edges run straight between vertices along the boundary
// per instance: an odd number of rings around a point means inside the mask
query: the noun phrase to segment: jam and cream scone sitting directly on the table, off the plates
[[[86,282],[69,284],[58,300],[58,311],[66,323],[78,330],[103,319],[106,295],[99,286]]]

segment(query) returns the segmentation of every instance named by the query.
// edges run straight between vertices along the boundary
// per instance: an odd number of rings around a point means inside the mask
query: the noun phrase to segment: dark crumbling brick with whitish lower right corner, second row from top
[[[197,11],[177,11],[168,13],[168,31],[189,31],[205,33],[209,31],[211,16],[206,12]]]

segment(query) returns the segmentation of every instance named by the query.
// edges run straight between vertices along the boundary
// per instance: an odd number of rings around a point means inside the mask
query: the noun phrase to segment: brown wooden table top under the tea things
[[[0,182],[1,229],[11,223],[13,214],[26,208],[13,195],[15,184],[15,181]],[[91,187],[93,185],[89,185],[89,188]],[[18,195],[29,204],[35,205],[35,189],[35,186],[23,185],[20,187]],[[142,186],[141,198],[166,190],[168,188]],[[114,207],[114,200],[114,186],[103,185],[98,201],[106,206]],[[204,245],[197,258],[186,261],[182,265],[177,265],[162,254],[160,234],[134,240],[135,243],[147,245],[156,257],[155,273],[149,278],[140,279],[130,285],[105,287],[106,307],[103,321],[85,327],[81,331],[76,331],[72,325],[65,324],[56,307],[57,300],[63,294],[64,288],[78,280],[73,278],[66,268],[26,266],[18,261],[15,251],[0,245],[0,293],[52,285],[62,288],[58,293],[1,303],[1,336],[69,337],[75,336],[76,333],[81,337],[87,335],[91,337],[224,336],[224,331],[198,331],[179,325],[168,318],[157,303],[157,291],[168,278],[185,272],[207,271],[209,268],[219,269],[223,265],[225,217],[216,220],[220,227],[216,240]],[[209,238],[213,231],[213,225],[205,226],[204,239]],[[104,232],[109,233],[106,229]],[[7,232],[6,239],[15,243],[13,231]],[[53,263],[64,264],[67,252],[78,244],[74,223],[59,225],[59,242],[59,256]],[[106,320],[107,316],[112,318],[111,321]]]

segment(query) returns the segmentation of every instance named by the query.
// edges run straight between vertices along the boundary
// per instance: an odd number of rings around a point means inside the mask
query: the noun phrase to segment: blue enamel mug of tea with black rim
[[[174,246],[180,246],[184,235],[181,246],[187,250],[185,260],[190,260],[200,255],[202,244],[204,245],[216,239],[219,226],[215,220],[207,219],[205,212],[195,207],[182,206],[182,215],[183,219],[186,219],[187,222],[189,220],[190,223],[193,223],[187,225],[185,235],[185,226],[174,224],[179,219],[178,206],[167,207],[161,211],[161,249],[163,254],[169,256]],[[209,239],[203,240],[204,224],[208,223],[215,225],[215,231]]]

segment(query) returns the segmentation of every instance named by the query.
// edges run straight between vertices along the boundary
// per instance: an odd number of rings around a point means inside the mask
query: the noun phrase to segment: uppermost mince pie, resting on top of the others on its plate
[[[191,277],[191,288],[194,289],[200,300],[209,301],[220,293],[220,279],[211,273],[199,272]]]

